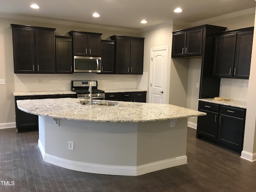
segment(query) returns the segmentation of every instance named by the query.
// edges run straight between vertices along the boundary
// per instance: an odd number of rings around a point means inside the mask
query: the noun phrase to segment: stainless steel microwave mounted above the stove
[[[75,73],[100,73],[101,57],[74,56]]]

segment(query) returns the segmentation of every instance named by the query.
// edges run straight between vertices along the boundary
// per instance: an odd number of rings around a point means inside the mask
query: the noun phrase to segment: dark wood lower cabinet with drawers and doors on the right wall
[[[198,110],[207,115],[198,117],[196,138],[241,154],[246,109],[199,101]]]

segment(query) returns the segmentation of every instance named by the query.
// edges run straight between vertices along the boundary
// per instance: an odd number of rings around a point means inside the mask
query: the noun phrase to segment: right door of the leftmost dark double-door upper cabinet
[[[36,30],[36,71],[55,73],[54,32]]]

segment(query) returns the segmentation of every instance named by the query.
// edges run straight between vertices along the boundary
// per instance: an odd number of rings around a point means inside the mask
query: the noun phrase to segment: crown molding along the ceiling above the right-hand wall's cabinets
[[[238,11],[238,12],[234,12],[234,13],[230,13],[230,14],[226,14],[226,15],[213,17],[213,18],[210,18],[210,19],[205,19],[205,20],[193,22],[192,26],[200,26],[200,25],[211,23],[211,22],[216,22],[216,21],[229,19],[229,18],[234,18],[234,17],[247,15],[247,14],[252,14],[252,13],[255,14],[255,8],[250,8],[250,9],[246,9],[246,10],[242,10],[242,11]]]

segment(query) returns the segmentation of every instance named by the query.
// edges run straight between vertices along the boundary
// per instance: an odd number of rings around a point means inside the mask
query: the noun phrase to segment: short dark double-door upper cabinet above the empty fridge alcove
[[[203,28],[173,32],[172,57],[202,55]]]

